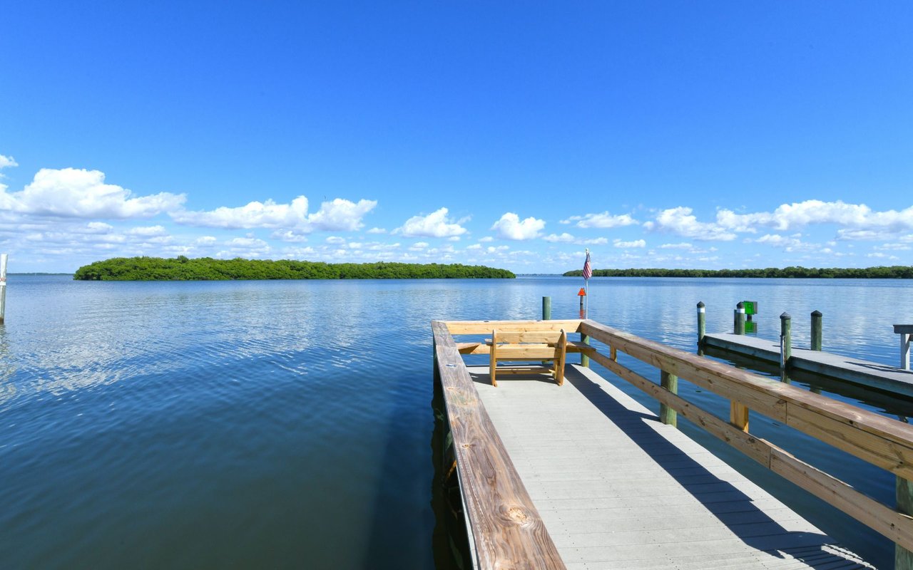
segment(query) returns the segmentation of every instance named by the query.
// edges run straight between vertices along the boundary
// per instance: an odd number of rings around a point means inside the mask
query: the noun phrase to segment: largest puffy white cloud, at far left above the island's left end
[[[160,192],[131,198],[131,191],[106,184],[101,171],[41,169],[21,192],[0,187],[0,210],[69,218],[148,218],[172,212],[184,194]]]

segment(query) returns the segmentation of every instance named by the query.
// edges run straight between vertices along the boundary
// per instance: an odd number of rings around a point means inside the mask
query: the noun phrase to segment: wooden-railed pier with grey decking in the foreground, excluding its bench
[[[913,427],[590,320],[432,326],[475,567],[871,567],[679,432],[679,415],[885,534],[897,543],[898,567],[909,567],[913,517],[752,436],[748,410],[898,482],[913,477]],[[496,329],[582,334],[575,349],[659,400],[659,416],[576,365],[563,386],[549,375],[492,386],[488,367],[467,368],[460,356],[483,354],[485,341],[453,335]],[[663,381],[625,368],[617,352],[656,366]],[[729,421],[678,397],[678,376],[731,399]]]

